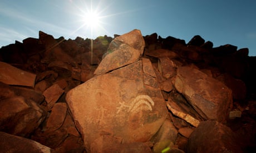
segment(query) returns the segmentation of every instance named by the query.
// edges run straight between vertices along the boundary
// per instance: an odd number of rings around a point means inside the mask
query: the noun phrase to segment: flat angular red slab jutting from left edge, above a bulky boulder
[[[35,86],[36,74],[0,62],[0,81],[9,85]]]

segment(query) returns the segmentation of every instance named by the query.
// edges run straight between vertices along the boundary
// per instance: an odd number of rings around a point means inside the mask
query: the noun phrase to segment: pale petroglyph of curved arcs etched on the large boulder
[[[135,99],[132,99],[130,103],[125,104],[125,101],[119,102],[120,106],[117,108],[117,114],[120,111],[127,111],[135,113],[140,110],[152,111],[154,101],[148,95],[138,95]]]

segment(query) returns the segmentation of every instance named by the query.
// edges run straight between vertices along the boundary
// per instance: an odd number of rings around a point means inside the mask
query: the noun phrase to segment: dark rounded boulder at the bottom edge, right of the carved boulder
[[[188,152],[243,151],[229,127],[218,121],[203,121],[189,137]]]

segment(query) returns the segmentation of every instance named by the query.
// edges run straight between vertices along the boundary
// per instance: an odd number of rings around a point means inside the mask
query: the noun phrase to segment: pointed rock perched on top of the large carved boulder
[[[140,30],[116,37],[109,45],[105,57],[94,74],[104,74],[139,60],[145,47]]]

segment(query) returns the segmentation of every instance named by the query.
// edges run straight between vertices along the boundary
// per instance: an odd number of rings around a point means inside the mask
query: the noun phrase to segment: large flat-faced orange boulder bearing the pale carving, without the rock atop
[[[160,89],[146,88],[139,60],[98,75],[66,96],[86,150],[102,135],[124,143],[146,142],[163,124],[167,109]],[[158,93],[156,92],[158,91]]]

